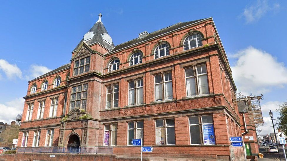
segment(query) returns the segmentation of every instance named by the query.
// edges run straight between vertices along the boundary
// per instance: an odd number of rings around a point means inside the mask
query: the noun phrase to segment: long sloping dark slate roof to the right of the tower
[[[206,19],[206,18],[204,18]],[[201,21],[201,20],[204,20],[204,19],[199,19],[199,20],[195,20],[195,21],[188,21],[188,22],[180,22],[180,23],[176,23],[172,26],[169,26],[169,27],[166,27],[166,28],[163,28],[163,29],[160,29],[160,30],[157,30],[157,31],[154,31],[152,33],[149,33],[146,37],[144,38],[135,38],[133,40],[130,40],[130,41],[127,41],[125,43],[122,43],[122,44],[119,44],[119,45],[116,45],[115,48],[113,50],[111,50],[111,52],[113,51],[116,51],[116,50],[121,50],[122,48],[125,48],[125,47],[128,47],[130,45],[134,45],[136,43],[139,43],[141,41],[145,41],[145,40],[148,40],[150,38],[153,38],[153,37],[156,37],[156,36],[159,36],[159,35],[162,35],[164,33],[168,33],[170,31],[173,31],[173,30],[176,30],[178,28],[181,28],[181,27],[184,27],[184,26],[188,26],[188,25],[191,25],[193,23],[196,23],[198,21]]]

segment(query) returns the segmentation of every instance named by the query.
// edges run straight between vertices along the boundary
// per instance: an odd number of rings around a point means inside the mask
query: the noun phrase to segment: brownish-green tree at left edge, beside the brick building
[[[0,134],[0,147],[12,147],[13,139],[18,139],[19,125],[10,125]]]

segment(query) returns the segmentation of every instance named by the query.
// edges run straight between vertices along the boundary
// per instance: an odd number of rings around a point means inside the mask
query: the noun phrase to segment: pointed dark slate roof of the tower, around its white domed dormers
[[[98,42],[109,50],[112,50],[115,47],[113,42],[112,42],[112,45],[109,45],[103,40],[102,34],[104,33],[109,34],[109,33],[106,30],[102,22],[95,23],[94,26],[89,30],[89,32],[93,32],[95,35],[93,36],[91,40],[85,41],[85,43],[87,43],[88,45]],[[84,41],[84,38],[80,41],[80,43],[76,46],[76,48],[73,51],[75,51],[81,45],[83,41]]]

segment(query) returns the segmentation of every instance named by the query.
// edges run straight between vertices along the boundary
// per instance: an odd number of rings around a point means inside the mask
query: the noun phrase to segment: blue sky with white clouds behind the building
[[[178,22],[213,17],[238,90],[261,94],[268,112],[286,100],[286,1],[2,1],[0,121],[23,109],[28,80],[70,62],[71,51],[98,20],[115,45]]]

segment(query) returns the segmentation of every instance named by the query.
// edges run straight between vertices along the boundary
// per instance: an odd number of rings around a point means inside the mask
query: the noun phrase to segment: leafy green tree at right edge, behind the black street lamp
[[[282,105],[279,105],[277,123],[276,127],[284,131],[284,134],[287,134],[287,102],[284,102]]]

